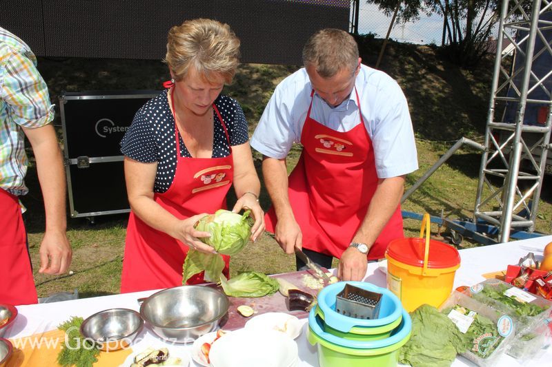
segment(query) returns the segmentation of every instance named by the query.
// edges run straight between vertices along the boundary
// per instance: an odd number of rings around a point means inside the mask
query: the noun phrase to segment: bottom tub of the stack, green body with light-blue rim
[[[397,366],[399,349],[408,342],[411,335],[412,322],[406,311],[403,312],[400,326],[395,328],[391,337],[364,343],[342,339],[324,332],[320,320],[311,321],[311,315],[309,315],[307,339],[312,345],[317,345],[320,367]],[[354,346],[365,346],[365,348]]]

